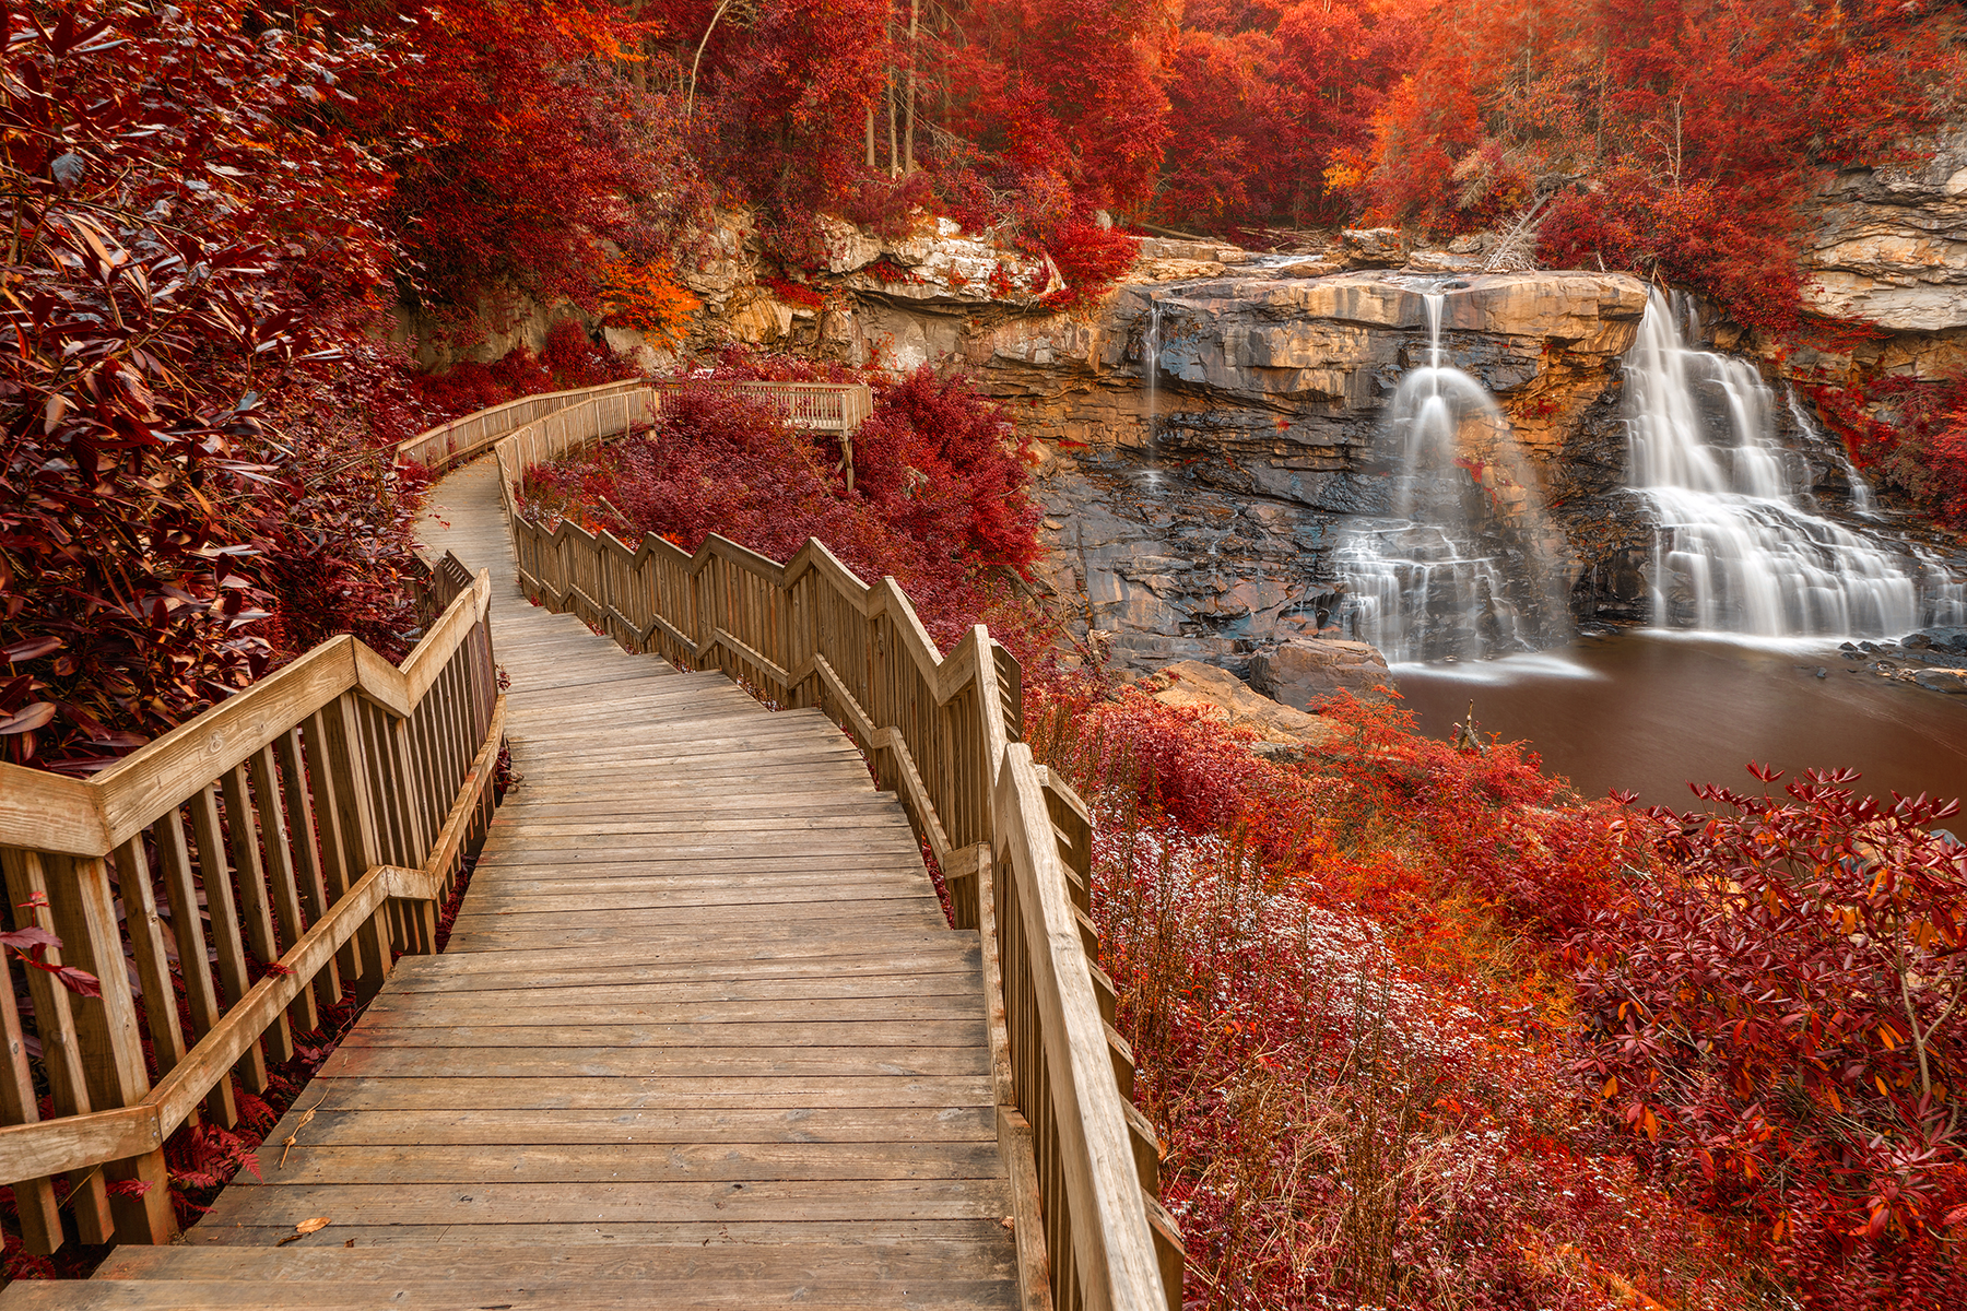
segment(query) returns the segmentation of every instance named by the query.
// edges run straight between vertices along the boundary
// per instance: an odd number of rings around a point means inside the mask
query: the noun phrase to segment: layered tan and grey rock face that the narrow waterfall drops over
[[[1334,637],[1334,552],[1349,515],[1391,511],[1401,450],[1385,407],[1428,360],[1430,291],[1446,293],[1446,364],[1497,395],[1548,484],[1633,342],[1646,305],[1637,279],[1306,277],[1302,261],[1249,261],[1121,287],[1092,320],[974,334],[974,371],[1043,442],[1050,584],[1070,617],[1145,668],[1200,658],[1247,670],[1273,643]],[[1465,464],[1491,499],[1511,495],[1495,454],[1477,440]]]

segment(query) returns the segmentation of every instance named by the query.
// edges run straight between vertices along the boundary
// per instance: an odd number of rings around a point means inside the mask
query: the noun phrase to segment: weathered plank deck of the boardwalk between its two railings
[[[490,460],[425,537],[492,568],[521,776],[448,949],[264,1181],[0,1307],[1017,1305],[978,936],[901,806],[820,712],[527,605]]]

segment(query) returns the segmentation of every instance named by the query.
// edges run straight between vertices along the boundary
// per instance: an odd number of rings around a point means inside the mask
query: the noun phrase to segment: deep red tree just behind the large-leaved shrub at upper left
[[[411,63],[358,79],[358,126],[395,169],[411,293],[466,330],[515,293],[600,303],[604,244],[661,254],[704,191],[679,96],[624,77],[649,29],[604,0],[354,0]],[[393,22],[391,22],[393,20]],[[647,81],[647,79],[643,79]]]

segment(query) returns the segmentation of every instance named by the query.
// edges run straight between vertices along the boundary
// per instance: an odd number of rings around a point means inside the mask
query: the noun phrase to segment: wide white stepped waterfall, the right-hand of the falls
[[[1633,489],[1658,523],[1656,625],[1886,637],[1932,621],[1943,596],[1926,596],[1924,562],[1812,513],[1808,470],[1776,436],[1774,393],[1747,362],[1688,346],[1658,291],[1625,375]]]

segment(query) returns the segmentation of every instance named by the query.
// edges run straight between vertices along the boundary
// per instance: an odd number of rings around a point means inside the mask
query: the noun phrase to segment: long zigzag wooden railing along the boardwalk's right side
[[[643,423],[655,393],[596,395],[498,442],[519,586],[629,651],[820,706],[934,853],[958,928],[982,930],[999,1144],[1027,1307],[1180,1307],[1182,1246],[1155,1201],[1153,1126],[1088,918],[1092,822],[1019,739],[1017,660],[974,627],[936,651],[893,578],[818,541],[775,564],[722,537],[694,554],[529,519],[525,474]]]

